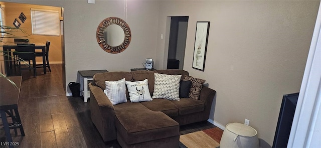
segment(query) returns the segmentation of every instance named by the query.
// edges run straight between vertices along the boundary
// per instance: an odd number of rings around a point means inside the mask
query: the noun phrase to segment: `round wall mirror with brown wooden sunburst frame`
[[[97,28],[97,42],[108,53],[123,52],[130,43],[131,32],[128,24],[117,17],[106,18]]]

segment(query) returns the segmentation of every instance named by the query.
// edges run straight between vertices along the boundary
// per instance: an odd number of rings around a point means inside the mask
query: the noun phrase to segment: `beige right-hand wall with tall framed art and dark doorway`
[[[210,118],[223,126],[247,118],[261,144],[272,145],[282,95],[300,88],[318,4],[163,1],[158,34],[166,34],[168,16],[189,16],[184,70],[217,91]],[[211,22],[204,72],[192,68],[197,21]],[[157,59],[165,57],[165,47],[166,40],[158,38]]]

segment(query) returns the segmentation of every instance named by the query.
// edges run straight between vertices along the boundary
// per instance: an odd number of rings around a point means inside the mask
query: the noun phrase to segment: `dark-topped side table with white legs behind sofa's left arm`
[[[79,74],[79,83],[80,83],[80,92],[81,95],[84,96],[84,102],[87,102],[90,97],[90,93],[88,90],[88,81],[91,81],[93,76],[96,73],[104,73],[108,72],[107,70],[82,70],[78,71]]]

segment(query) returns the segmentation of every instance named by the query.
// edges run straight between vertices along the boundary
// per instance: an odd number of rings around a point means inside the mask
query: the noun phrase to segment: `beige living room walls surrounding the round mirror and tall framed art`
[[[95,32],[107,17],[125,19],[123,1],[15,1],[64,7],[66,80],[78,70],[129,71],[153,58],[166,68],[168,16],[189,16],[184,69],[217,91],[210,119],[244,122],[273,143],[283,94],[298,92],[319,1],[128,1],[129,47],[109,54]],[[210,21],[205,71],[192,68],[197,21]],[[164,39],[161,39],[164,34]]]

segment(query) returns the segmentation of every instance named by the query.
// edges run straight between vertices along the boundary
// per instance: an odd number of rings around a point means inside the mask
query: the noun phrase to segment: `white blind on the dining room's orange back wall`
[[[45,36],[59,36],[59,12],[31,9],[32,34]]]

